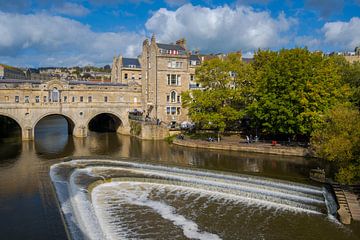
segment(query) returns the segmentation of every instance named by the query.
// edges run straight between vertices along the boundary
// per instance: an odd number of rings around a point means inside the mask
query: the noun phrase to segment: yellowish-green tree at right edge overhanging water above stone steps
[[[349,105],[337,105],[315,130],[311,146],[317,157],[334,162],[337,181],[360,180],[360,113]]]

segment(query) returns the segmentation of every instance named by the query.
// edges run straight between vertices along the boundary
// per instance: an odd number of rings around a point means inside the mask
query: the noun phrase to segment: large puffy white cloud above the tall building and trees
[[[193,49],[251,51],[286,45],[287,33],[294,24],[296,21],[283,13],[273,18],[269,12],[244,6],[207,8],[187,4],[175,11],[159,9],[145,26],[163,42],[185,37]]]

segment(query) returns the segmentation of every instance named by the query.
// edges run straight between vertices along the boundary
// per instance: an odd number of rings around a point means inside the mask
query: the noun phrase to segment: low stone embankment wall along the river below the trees
[[[184,137],[184,139],[174,139],[173,144],[191,148],[243,151],[286,156],[306,157],[310,155],[309,149],[305,147],[283,146],[280,144],[273,145],[271,143],[259,142],[246,143],[244,141],[240,141],[239,137],[234,136],[223,137],[220,142],[210,142],[202,139]]]

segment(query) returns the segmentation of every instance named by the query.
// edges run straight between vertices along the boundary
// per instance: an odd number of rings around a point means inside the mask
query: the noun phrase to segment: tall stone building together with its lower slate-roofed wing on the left
[[[144,117],[175,126],[188,120],[181,93],[200,87],[195,80],[200,64],[200,57],[187,50],[185,39],[164,44],[153,36],[144,40],[139,58],[114,57],[111,82],[141,85]]]

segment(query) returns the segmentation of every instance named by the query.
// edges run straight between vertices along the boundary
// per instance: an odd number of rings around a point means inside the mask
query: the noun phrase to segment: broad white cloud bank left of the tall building
[[[88,25],[59,16],[3,12],[0,32],[0,61],[27,59],[39,65],[109,63],[115,52],[136,56],[144,38],[135,32],[94,32]]]

